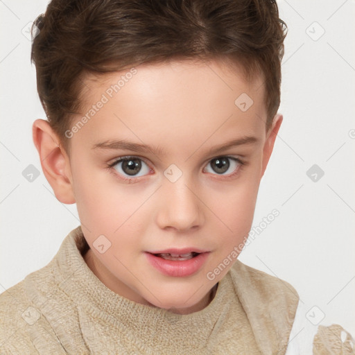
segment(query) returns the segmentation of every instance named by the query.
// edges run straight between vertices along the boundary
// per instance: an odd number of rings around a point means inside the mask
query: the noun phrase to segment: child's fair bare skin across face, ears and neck
[[[142,64],[136,69],[73,134],[70,155],[42,119],[33,123],[33,141],[55,196],[77,204],[91,247],[84,259],[96,277],[134,302],[189,314],[211,302],[214,286],[233,263],[213,280],[207,272],[243,243],[252,227],[260,180],[282,116],[276,115],[266,131],[262,77],[247,82],[239,67],[221,60]],[[128,71],[87,75],[80,96],[83,112],[73,123]],[[242,93],[254,101],[246,112],[234,104]],[[209,153],[214,146],[245,136],[257,142]],[[159,146],[165,154],[92,149],[109,139]],[[133,182],[123,180],[132,176],[121,163],[107,168],[125,155],[144,159]],[[218,173],[213,159],[226,155],[247,164],[227,159],[230,168]],[[164,175],[171,164],[182,172],[176,182]],[[103,254],[93,247],[102,234],[112,243]],[[188,246],[210,251],[202,268],[189,277],[163,275],[144,254]]]

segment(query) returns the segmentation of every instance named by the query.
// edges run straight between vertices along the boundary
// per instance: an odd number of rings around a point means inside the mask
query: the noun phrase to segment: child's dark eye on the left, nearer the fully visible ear
[[[120,157],[108,167],[123,175],[123,180],[134,180],[150,172],[149,166],[139,157]]]

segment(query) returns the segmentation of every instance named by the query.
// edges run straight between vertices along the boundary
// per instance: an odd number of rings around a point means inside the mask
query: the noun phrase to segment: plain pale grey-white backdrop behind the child
[[[76,205],[55,198],[32,140],[33,121],[46,117],[26,31],[47,3],[0,0],[0,293],[49,263],[80,224]],[[253,226],[272,209],[279,216],[239,259],[291,283],[310,322],[324,317],[354,336],[355,1],[278,3],[288,25],[284,123]],[[23,175],[30,164],[40,172],[33,182]]]

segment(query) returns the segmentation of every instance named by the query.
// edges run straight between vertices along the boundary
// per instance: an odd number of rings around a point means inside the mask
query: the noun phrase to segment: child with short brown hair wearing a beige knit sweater
[[[0,296],[1,354],[355,354],[237,258],[282,124],[275,1],[53,0],[42,169],[80,225]]]

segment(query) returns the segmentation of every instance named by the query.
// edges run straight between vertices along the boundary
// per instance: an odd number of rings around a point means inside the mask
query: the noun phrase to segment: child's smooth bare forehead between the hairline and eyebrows
[[[76,137],[98,143],[98,137],[116,139],[120,134],[162,139],[218,139],[234,130],[252,135],[265,130],[263,79],[246,80],[243,68],[220,60],[180,60],[142,64],[98,76],[87,74],[80,93],[81,115],[101,108]],[[80,115],[73,120],[75,124]],[[235,135],[234,135],[235,136]],[[200,137],[200,138],[198,138]]]

